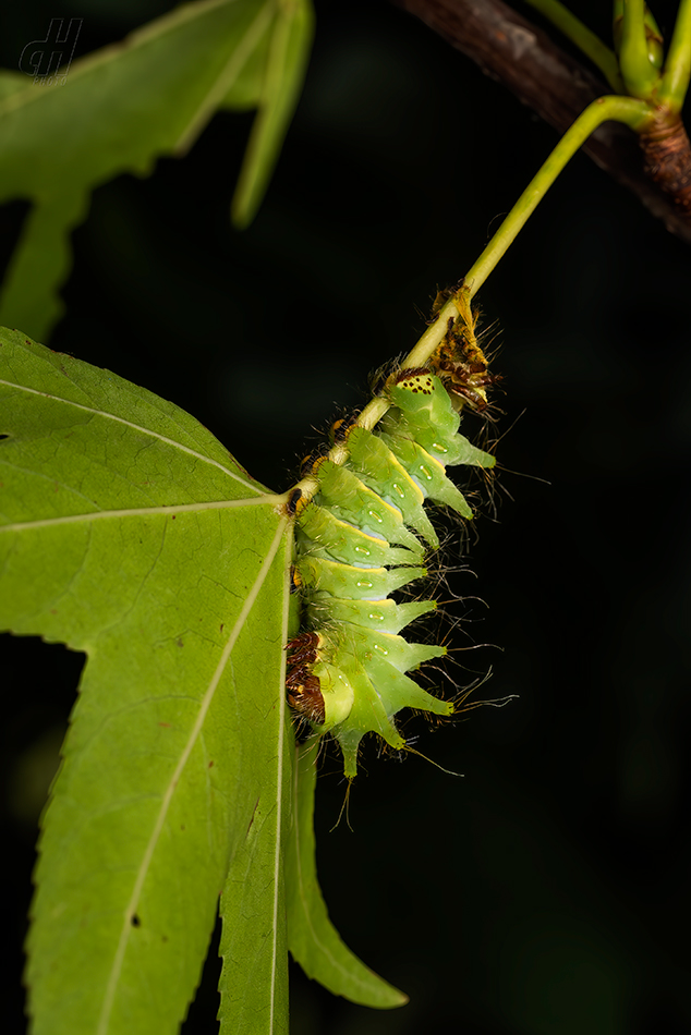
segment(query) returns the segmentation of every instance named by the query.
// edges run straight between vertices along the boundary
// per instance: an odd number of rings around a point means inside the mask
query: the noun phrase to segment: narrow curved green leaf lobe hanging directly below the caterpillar
[[[334,995],[365,1007],[401,1007],[408,996],[365,966],[329,920],[317,884],[315,787],[316,745],[307,741],[296,751],[293,765],[295,812],[286,867],[289,949],[307,976]]]

